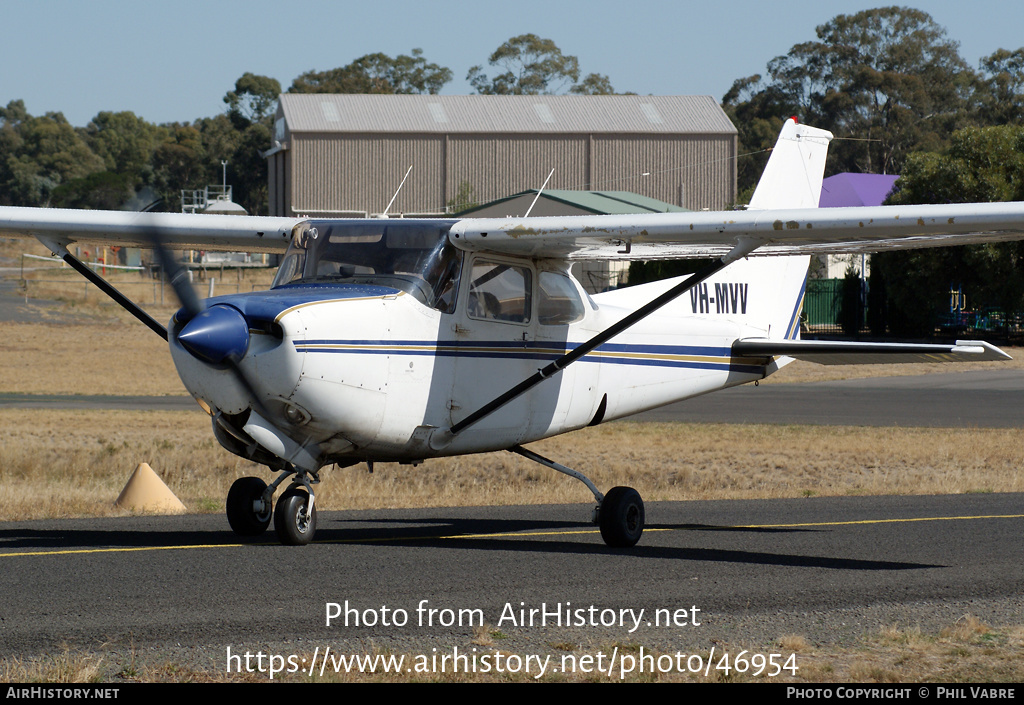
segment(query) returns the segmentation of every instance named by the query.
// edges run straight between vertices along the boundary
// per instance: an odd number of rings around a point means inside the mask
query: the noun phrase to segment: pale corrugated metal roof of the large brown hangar
[[[710,95],[283,93],[291,132],[735,134]]]

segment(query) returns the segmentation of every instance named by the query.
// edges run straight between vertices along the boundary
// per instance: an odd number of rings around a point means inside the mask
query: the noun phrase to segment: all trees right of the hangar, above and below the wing
[[[737,79],[722,107],[748,155],[738,162],[740,203],[791,115],[836,135],[827,174],[899,174],[888,203],[1024,201],[1024,47],[998,48],[975,69],[922,10],[837,15],[764,74]],[[1024,320],[1021,264],[1016,242],[872,255],[868,290],[848,282],[847,332],[859,330],[866,306],[876,336],[931,335],[950,290],[972,308],[996,309],[1004,324]]]

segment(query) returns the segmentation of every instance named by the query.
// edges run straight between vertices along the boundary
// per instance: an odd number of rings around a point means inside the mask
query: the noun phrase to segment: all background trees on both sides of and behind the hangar
[[[288,90],[437,93],[452,78],[413,49],[308,71]],[[584,75],[575,56],[532,34],[509,39],[466,78],[479,94],[616,92],[607,76]],[[12,100],[0,108],[0,204],[138,208],[162,199],[163,209],[177,210],[180,191],[218,182],[227,160],[234,200],[265,213],[261,152],[281,92],[275,79],[247,73],[224,95],[223,113],[163,125],[103,112],[74,127],[60,113],[32,116]],[[837,15],[764,73],[737,79],[722,106],[738,130],[740,203],[791,115],[836,134],[828,173],[901,174],[893,203],[1024,200],[1024,47],[998,48],[973,68],[922,10]],[[1022,254],[1009,243],[874,256],[872,328],[921,332],[950,286],[969,301],[1024,312]],[[658,264],[657,276],[666,274]]]

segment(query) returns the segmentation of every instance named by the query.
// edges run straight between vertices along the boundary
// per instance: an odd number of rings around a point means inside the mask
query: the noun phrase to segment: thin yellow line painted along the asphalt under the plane
[[[911,522],[970,522],[983,519],[1024,519],[1024,514],[980,514],[976,516],[921,516],[918,519],[868,519],[852,522],[807,522],[803,524],[744,524],[736,526],[710,527],[713,529],[801,529],[807,527],[848,527],[866,524],[908,524]],[[705,527],[701,527],[703,529]],[[647,528],[645,534],[666,531],[693,531],[691,528]],[[439,541],[450,539],[495,539],[495,538],[525,538],[534,536],[572,536],[583,534],[598,534],[598,529],[573,529],[567,531],[531,531],[531,532],[499,532],[495,534],[438,534],[436,536],[384,536],[381,538],[361,539],[328,539],[313,543],[397,543],[399,541]],[[71,548],[41,551],[12,551],[0,553],[0,558],[29,555],[75,555],[79,553],[130,553],[157,550],[186,550],[190,548],[241,548],[242,546],[274,546],[267,543],[197,543],[180,546],[132,546],[125,548]]]

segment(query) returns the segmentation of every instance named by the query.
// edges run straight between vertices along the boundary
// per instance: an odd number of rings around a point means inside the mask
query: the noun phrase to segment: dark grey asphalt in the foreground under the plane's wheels
[[[499,646],[520,652],[562,641],[767,649],[790,633],[846,642],[967,613],[1024,623],[1020,494],[652,502],[629,550],[605,547],[587,514],[585,504],[325,512],[317,541],[301,548],[275,544],[272,529],[239,544],[219,515],[7,523],[0,652],[198,649],[223,668],[227,647],[470,648],[472,617],[442,624],[460,610],[479,611]],[[346,602],[362,621],[327,626],[327,604]],[[567,604],[644,617],[518,618]],[[404,626],[380,624],[399,610]],[[651,621],[657,610],[675,623]]]

